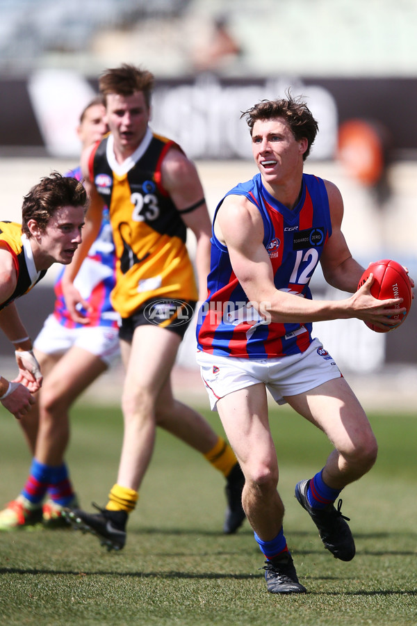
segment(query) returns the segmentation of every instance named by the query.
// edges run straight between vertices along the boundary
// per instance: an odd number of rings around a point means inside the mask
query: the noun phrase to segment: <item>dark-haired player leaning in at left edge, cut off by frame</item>
[[[15,346],[19,374],[0,377],[0,402],[23,419],[42,385],[42,374],[17,308],[54,263],[67,265],[81,243],[87,195],[74,178],[58,172],[41,179],[24,197],[22,225],[0,222],[0,328]]]

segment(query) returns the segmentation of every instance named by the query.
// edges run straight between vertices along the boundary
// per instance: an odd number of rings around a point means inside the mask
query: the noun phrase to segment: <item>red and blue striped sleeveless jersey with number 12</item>
[[[329,200],[322,179],[303,175],[302,195],[292,211],[268,193],[260,174],[226,195],[244,195],[259,209],[263,246],[270,257],[275,287],[311,299],[311,275],[332,234]],[[199,350],[266,359],[302,353],[309,347],[311,323],[268,324],[253,307],[247,306],[247,296],[231,268],[227,247],[218,241],[214,228],[208,294],[197,316]]]

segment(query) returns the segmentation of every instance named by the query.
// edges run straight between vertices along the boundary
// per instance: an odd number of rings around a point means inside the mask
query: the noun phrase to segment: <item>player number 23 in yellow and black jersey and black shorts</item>
[[[75,527],[95,533],[108,548],[126,541],[126,522],[152,458],[156,426],[161,426],[204,454],[227,480],[228,509],[224,532],[233,533],[245,519],[241,504],[243,474],[231,447],[195,410],[174,399],[170,374],[197,298],[206,298],[210,220],[194,164],[179,145],[149,128],[154,77],[147,70],[122,65],[99,80],[111,134],[81,159],[90,195],[85,244],[63,283],[68,310],[85,322],[72,285],[77,264],[99,227],[108,202],[117,268],[112,294],[122,316],[120,342],[126,369],[122,394],[124,440],[117,483],[106,508],[90,514],[76,510]],[[197,239],[196,266],[186,248],[186,229]],[[65,280],[65,277],[64,277]],[[179,323],[181,321],[181,323]]]

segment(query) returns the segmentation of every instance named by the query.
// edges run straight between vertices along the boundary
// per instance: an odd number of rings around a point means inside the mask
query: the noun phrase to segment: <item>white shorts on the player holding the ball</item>
[[[342,376],[333,358],[318,339],[313,339],[302,354],[250,360],[219,357],[199,351],[197,363],[212,411],[223,396],[258,383],[264,383],[278,404],[285,404],[284,396],[307,392],[327,383],[327,380]]]

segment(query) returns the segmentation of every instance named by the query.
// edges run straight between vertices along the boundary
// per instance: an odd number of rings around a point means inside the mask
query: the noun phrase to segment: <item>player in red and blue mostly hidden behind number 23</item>
[[[106,134],[104,102],[96,97],[81,113],[77,134],[83,149]],[[81,180],[81,168],[68,172]],[[67,526],[63,506],[76,504],[63,455],[70,436],[69,410],[72,403],[120,354],[119,316],[110,302],[115,285],[115,246],[103,212],[99,235],[88,251],[77,276],[83,294],[83,314],[88,326],[75,323],[65,308],[58,274],[56,303],[33,344],[44,382],[36,403],[20,424],[34,456],[22,493],[0,512],[0,530],[20,529],[44,522],[49,527]],[[47,493],[47,501],[44,502]]]

